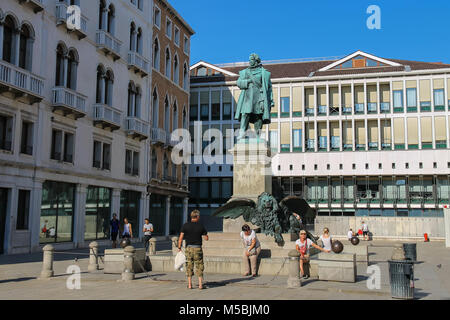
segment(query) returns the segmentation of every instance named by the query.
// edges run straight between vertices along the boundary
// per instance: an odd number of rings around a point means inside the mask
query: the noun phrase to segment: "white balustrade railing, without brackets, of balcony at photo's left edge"
[[[6,61],[0,61],[0,82],[42,96],[44,79]]]

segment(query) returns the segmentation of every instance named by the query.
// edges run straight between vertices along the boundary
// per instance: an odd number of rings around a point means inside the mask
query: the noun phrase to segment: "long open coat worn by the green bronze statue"
[[[238,121],[241,121],[242,112],[245,108],[244,101],[245,101],[245,94],[247,93],[248,85],[250,75],[248,74],[250,72],[250,68],[244,69],[239,71],[239,79],[237,81],[237,86],[242,90],[239,101],[236,107],[236,115],[235,119]],[[270,81],[270,72],[261,67],[261,78],[262,78],[262,90],[263,90],[263,96],[264,96],[264,113],[262,115],[263,124],[269,124],[270,123],[270,109],[274,106],[273,102],[273,92],[272,92],[272,82]],[[252,108],[250,107],[250,110]],[[250,122],[255,122],[254,117],[250,117]]]

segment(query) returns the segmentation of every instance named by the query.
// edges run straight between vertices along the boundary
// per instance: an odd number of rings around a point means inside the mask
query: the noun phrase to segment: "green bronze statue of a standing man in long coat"
[[[256,53],[250,55],[250,66],[239,72],[237,85],[242,90],[235,116],[241,123],[238,140],[244,138],[249,123],[255,124],[259,137],[263,124],[270,123],[270,109],[274,102],[270,72],[262,67]]]

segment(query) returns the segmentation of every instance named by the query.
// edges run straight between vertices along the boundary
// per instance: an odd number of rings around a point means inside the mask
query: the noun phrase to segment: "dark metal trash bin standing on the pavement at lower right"
[[[414,261],[388,260],[391,296],[396,299],[414,299]]]

